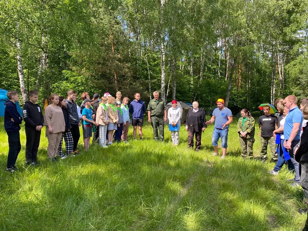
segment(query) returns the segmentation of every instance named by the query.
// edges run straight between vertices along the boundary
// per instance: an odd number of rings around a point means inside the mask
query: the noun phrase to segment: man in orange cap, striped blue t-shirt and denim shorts
[[[215,121],[214,131],[212,136],[212,146],[214,148],[214,155],[218,155],[218,140],[221,138],[222,156],[221,159],[226,158],[227,141],[229,124],[232,123],[232,112],[229,108],[225,107],[225,101],[223,99],[217,100],[217,108],[213,111],[212,118],[205,124],[212,124]]]

